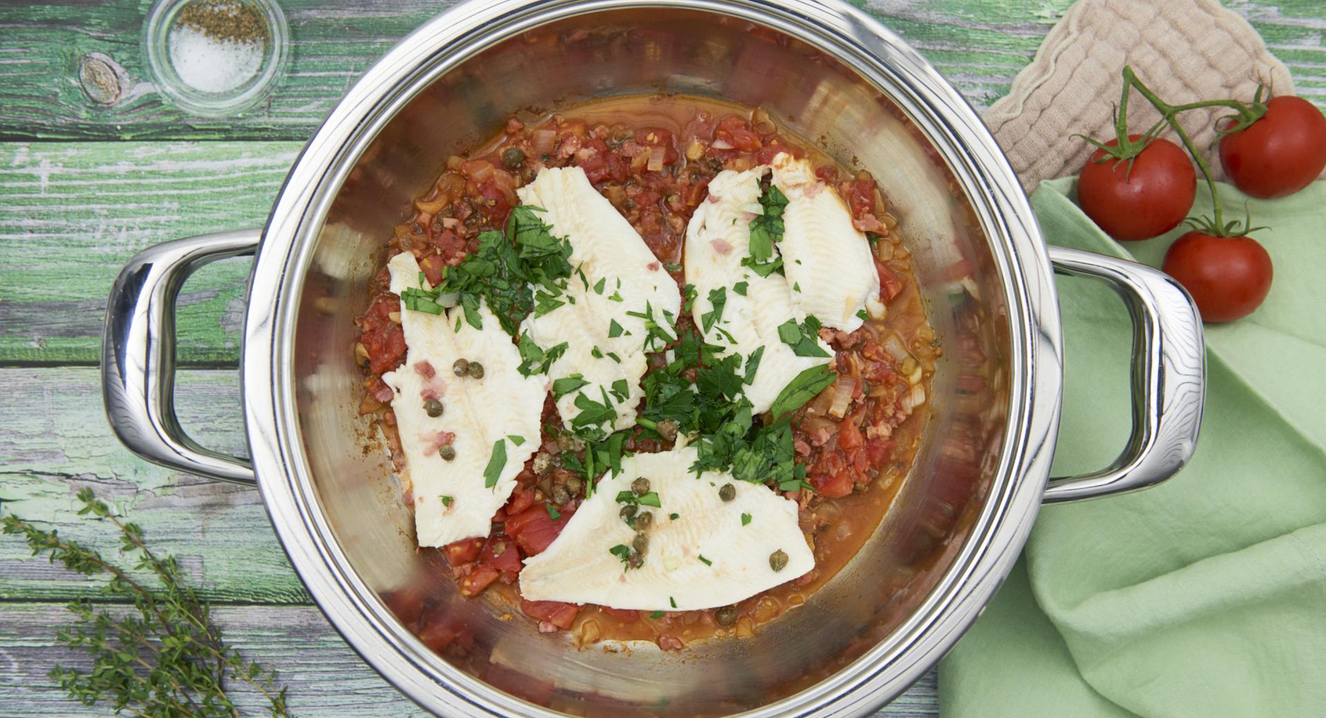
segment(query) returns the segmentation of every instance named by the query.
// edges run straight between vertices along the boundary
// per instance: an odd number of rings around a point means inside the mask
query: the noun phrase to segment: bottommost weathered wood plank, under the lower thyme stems
[[[247,657],[274,669],[289,689],[294,715],[309,718],[423,718],[423,710],[396,693],[345,644],[314,607],[219,607],[216,623]],[[86,669],[85,654],[58,645],[65,609],[50,603],[0,604],[0,718],[89,718],[105,706],[70,702],[46,673],[57,662]],[[623,656],[623,660],[630,660]],[[235,690],[244,715],[265,715],[263,699]],[[931,672],[876,715],[939,715]]]

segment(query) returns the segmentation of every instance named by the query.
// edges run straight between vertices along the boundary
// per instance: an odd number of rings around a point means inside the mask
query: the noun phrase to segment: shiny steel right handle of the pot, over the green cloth
[[[1055,272],[1105,280],[1132,317],[1132,435],[1110,466],[1086,476],[1054,477],[1054,503],[1146,489],[1192,458],[1205,395],[1201,317],[1179,282],[1147,265],[1050,246]]]

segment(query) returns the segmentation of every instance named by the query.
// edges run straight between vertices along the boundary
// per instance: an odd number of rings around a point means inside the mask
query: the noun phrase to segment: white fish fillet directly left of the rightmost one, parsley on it
[[[721,318],[704,333],[705,342],[741,354],[743,370],[752,354],[764,347],[753,382],[745,387],[752,411],[769,409],[778,392],[802,371],[827,364],[833,350],[818,340],[823,356],[797,356],[778,338],[778,325],[796,315],[792,286],[777,273],[761,277],[741,264],[751,254],[751,220],[762,208],[760,179],[769,171],[760,166],[744,172],[724,170],[709,181],[709,195],[691,216],[686,229],[686,281],[695,285],[691,307],[695,325],[713,311],[709,293],[723,289],[727,302]],[[745,295],[736,286],[745,282]]]

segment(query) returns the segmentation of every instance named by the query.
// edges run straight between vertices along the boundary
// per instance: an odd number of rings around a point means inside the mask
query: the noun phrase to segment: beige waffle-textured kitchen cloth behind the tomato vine
[[[1266,50],[1257,30],[1216,0],[1078,0],[1050,30],[1041,49],[992,105],[985,122],[1030,193],[1044,179],[1082,170],[1091,147],[1079,132],[1114,136],[1111,111],[1119,102],[1119,73],[1128,64],[1171,105],[1199,99],[1252,99],[1257,82],[1293,94],[1289,70]],[[1223,107],[1181,115],[1197,147],[1208,151],[1217,176],[1212,122]],[[1146,131],[1160,118],[1136,93],[1128,127]]]

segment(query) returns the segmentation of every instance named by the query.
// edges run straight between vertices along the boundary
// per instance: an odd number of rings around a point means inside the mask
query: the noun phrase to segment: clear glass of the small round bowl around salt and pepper
[[[194,4],[244,5],[267,24],[263,57],[252,77],[221,91],[204,91],[186,82],[171,60],[171,30],[180,12]],[[233,117],[261,102],[285,74],[290,29],[274,0],[156,0],[143,24],[143,57],[156,89],[182,110],[203,117]]]

